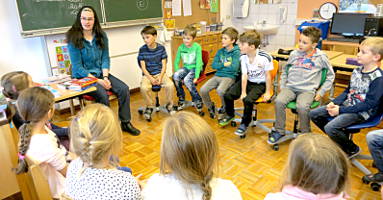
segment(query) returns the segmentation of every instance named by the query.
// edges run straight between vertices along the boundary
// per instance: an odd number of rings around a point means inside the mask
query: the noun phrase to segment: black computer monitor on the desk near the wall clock
[[[343,36],[363,36],[364,21],[371,14],[334,13],[331,22],[331,34]]]

